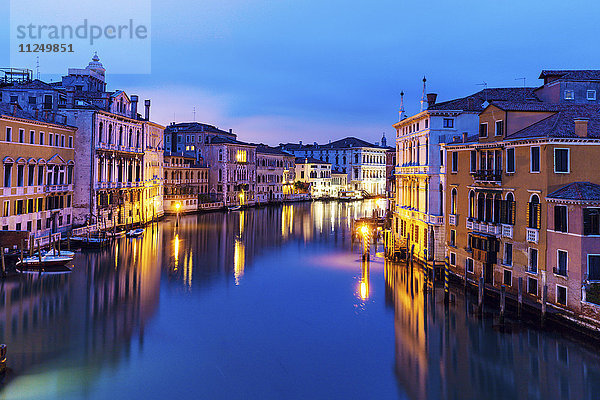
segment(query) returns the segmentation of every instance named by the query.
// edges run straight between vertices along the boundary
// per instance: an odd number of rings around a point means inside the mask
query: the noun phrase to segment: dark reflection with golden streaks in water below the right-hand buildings
[[[593,348],[519,325],[500,333],[493,318],[471,313],[476,299],[462,290],[451,290],[456,302],[445,309],[417,268],[386,264],[385,280],[396,377],[410,399],[597,398]]]

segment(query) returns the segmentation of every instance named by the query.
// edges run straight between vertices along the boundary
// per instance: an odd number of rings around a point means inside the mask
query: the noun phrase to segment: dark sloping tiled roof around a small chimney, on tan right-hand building
[[[506,139],[522,138],[574,138],[575,120],[586,118],[588,120],[588,137],[600,138],[600,106],[598,105],[569,105],[558,108],[560,111],[529,125]]]

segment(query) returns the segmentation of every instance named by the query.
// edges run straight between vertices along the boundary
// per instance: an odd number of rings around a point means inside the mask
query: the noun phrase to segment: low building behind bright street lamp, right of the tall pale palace
[[[165,213],[198,211],[203,196],[208,195],[208,167],[194,157],[165,153],[164,173]]]

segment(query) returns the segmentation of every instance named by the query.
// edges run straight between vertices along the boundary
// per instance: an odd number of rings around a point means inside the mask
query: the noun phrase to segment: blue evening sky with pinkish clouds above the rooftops
[[[538,85],[543,68],[600,68],[599,8],[555,0],[153,1],[152,73],[111,75],[104,66],[109,90],[151,98],[152,119],[163,124],[192,120],[195,107],[197,121],[246,141],[378,141],[383,132],[389,140],[400,91],[407,112],[418,111],[423,75],[443,101],[482,82],[521,86],[516,78],[525,77]],[[0,64],[8,66],[6,24],[0,34]]]

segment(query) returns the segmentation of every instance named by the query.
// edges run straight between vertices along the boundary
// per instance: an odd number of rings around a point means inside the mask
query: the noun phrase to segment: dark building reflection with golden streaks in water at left
[[[27,379],[24,374],[48,364],[55,370],[93,366],[81,371],[85,386],[104,365],[127,358],[130,340],[137,335],[143,342],[158,306],[160,240],[160,232],[149,229],[145,241],[122,239],[103,252],[77,253],[73,273],[5,281],[0,337],[9,349],[9,377]],[[44,388],[32,390],[27,395],[35,397]]]

